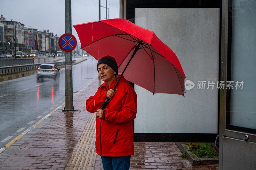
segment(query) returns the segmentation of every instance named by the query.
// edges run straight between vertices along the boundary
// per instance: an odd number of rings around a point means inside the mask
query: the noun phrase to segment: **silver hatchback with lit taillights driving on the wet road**
[[[60,77],[59,70],[55,64],[41,64],[37,69],[36,79],[53,78],[55,80]]]

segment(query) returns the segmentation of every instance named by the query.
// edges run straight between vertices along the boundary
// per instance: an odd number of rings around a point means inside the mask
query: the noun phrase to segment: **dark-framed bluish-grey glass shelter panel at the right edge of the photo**
[[[256,133],[256,2],[229,1],[226,129]]]

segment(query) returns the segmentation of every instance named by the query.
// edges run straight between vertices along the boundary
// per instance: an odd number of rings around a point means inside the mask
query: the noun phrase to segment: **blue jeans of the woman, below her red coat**
[[[130,168],[130,159],[129,156],[102,156],[102,165],[104,170],[129,170]]]

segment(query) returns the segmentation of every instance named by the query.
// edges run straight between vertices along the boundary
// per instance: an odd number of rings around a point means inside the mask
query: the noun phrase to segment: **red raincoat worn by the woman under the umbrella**
[[[119,77],[119,76],[118,76]],[[108,89],[113,89],[116,78],[109,86],[104,82],[94,96],[86,100],[87,111],[94,113],[100,109],[107,99]],[[101,122],[101,148],[102,156],[128,156],[134,155],[132,120],[137,113],[137,95],[122,76],[116,86],[114,97],[103,110]],[[104,119],[104,120],[103,120]],[[96,118],[96,153],[100,150],[100,119]]]

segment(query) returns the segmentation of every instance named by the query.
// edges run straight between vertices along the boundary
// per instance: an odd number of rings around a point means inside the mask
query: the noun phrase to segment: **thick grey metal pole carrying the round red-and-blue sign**
[[[71,30],[71,0],[65,0],[65,33],[72,34]],[[72,51],[65,52],[66,62],[66,85],[65,85],[65,107],[63,111],[75,111],[73,106],[73,79],[72,79]]]

